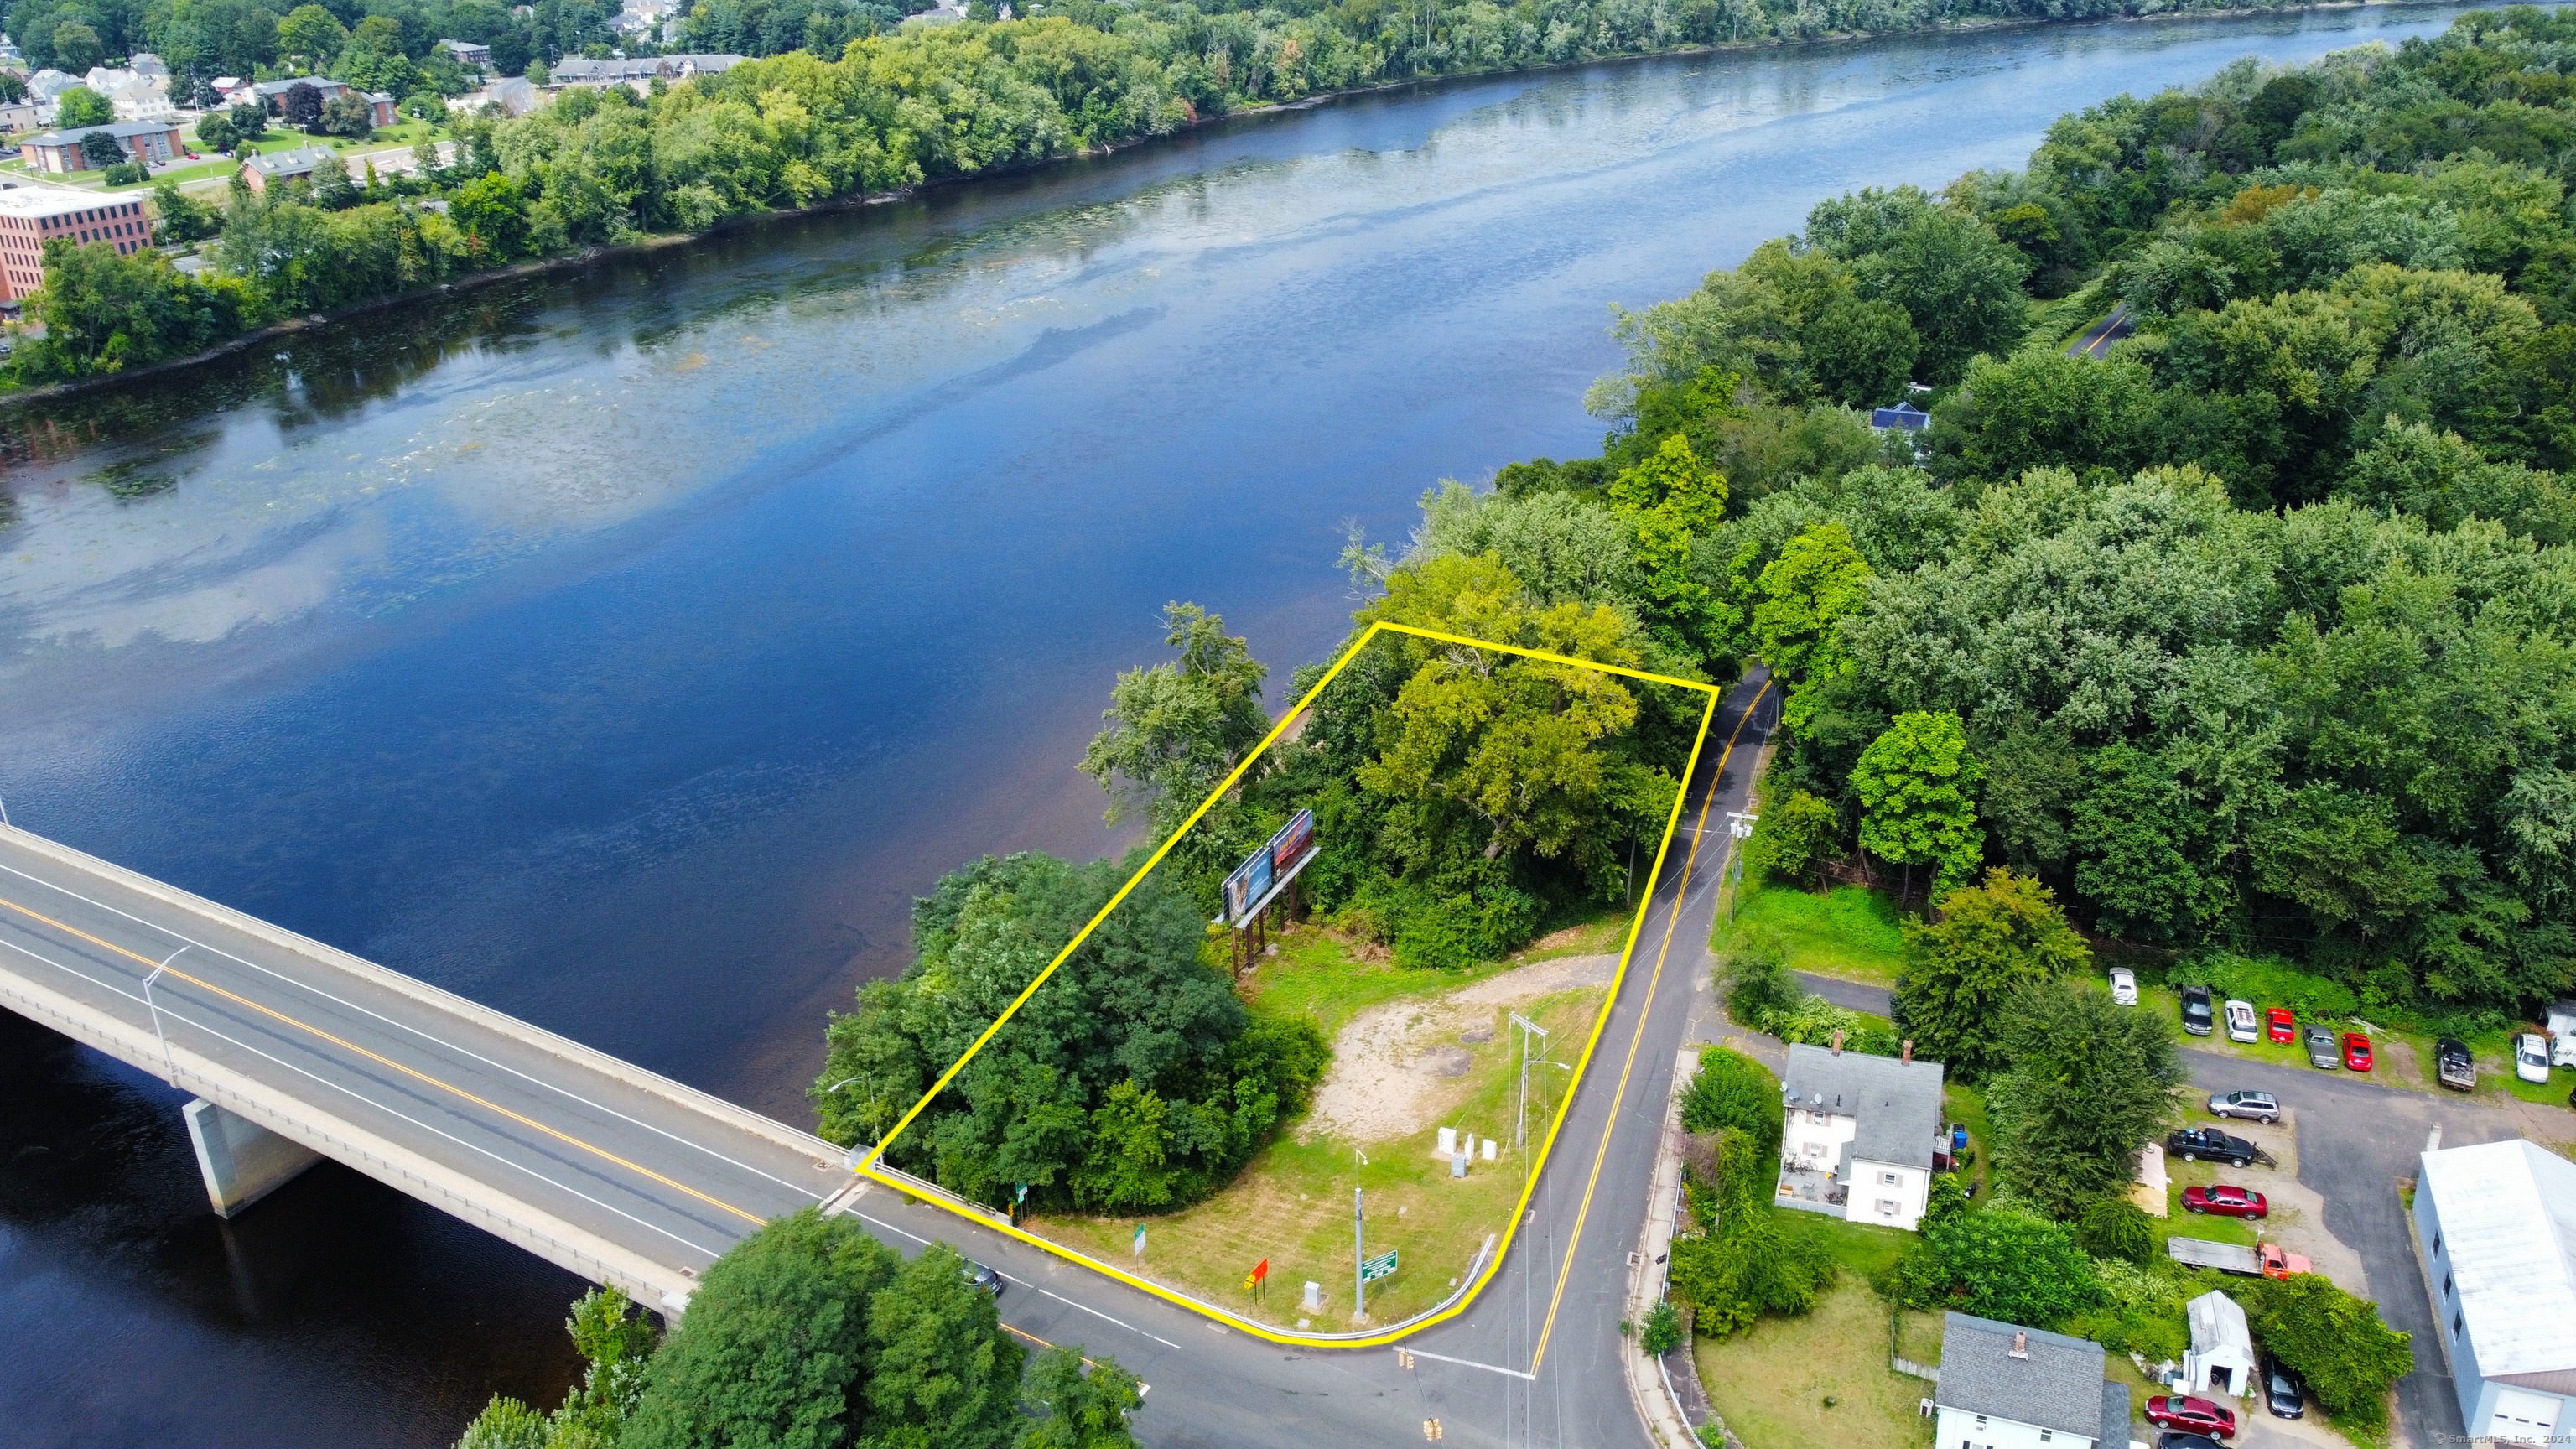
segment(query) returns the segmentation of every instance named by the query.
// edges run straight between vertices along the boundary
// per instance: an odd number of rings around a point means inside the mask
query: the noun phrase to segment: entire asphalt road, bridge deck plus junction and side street
[[[1618,1361],[1636,1351],[1618,1333],[1620,1299],[1672,1060],[1705,998],[1726,812],[1744,807],[1775,714],[1765,686],[1749,678],[1718,709],[1528,1222],[1463,1315],[1406,1341],[1419,1351],[1412,1369],[1388,1348],[1252,1338],[889,1189],[848,1209],[907,1250],[948,1240],[994,1266],[1007,1284],[1002,1318],[1030,1343],[1115,1354],[1149,1385],[1139,1436],[1157,1449],[1414,1444],[1430,1421],[1443,1444],[1646,1446]],[[165,962],[147,1003],[144,980]],[[696,1111],[685,1093],[659,1096],[469,1013],[425,1008],[327,951],[281,946],[219,910],[178,910],[8,830],[0,975],[144,1029],[157,1008],[173,1042],[654,1261],[698,1269],[760,1220],[850,1181]]]

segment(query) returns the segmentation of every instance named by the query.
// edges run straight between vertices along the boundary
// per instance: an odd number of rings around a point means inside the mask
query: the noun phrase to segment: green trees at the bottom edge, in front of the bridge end
[[[945,1243],[904,1261],[804,1209],[716,1258],[667,1336],[598,1289],[567,1323],[582,1382],[554,1413],[497,1397],[456,1449],[1133,1449],[1136,1377],[1030,1356]]]

